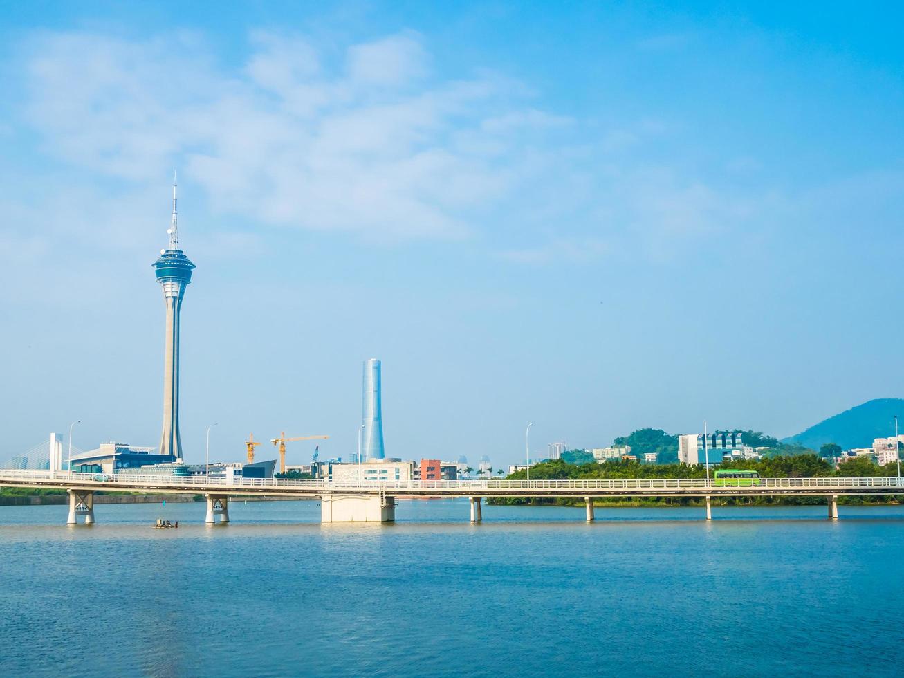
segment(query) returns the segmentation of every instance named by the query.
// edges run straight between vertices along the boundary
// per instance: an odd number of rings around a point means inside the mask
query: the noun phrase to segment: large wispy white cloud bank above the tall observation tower
[[[148,183],[187,163],[215,212],[376,240],[467,233],[466,212],[510,187],[491,160],[517,165],[501,121],[560,124],[504,80],[428,78],[415,33],[335,62],[297,35],[259,31],[250,45],[229,70],[191,34],[37,34],[24,50],[28,124],[71,165]],[[466,133],[494,158],[459,144]]]

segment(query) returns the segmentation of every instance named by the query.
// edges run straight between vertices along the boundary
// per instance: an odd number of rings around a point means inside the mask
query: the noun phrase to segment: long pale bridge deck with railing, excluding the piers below
[[[724,481],[721,481],[724,482]],[[740,481],[749,482],[749,481]],[[625,480],[419,480],[407,483],[242,478],[226,483],[207,476],[82,474],[0,469],[0,486],[231,496],[385,494],[396,497],[764,496],[904,494],[898,477],[759,478],[758,485],[716,485],[703,478]]]

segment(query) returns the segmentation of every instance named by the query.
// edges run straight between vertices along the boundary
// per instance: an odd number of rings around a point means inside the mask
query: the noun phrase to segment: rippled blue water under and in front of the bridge
[[[711,676],[904,663],[904,507],[0,507],[0,675]],[[157,517],[178,530],[154,530]]]

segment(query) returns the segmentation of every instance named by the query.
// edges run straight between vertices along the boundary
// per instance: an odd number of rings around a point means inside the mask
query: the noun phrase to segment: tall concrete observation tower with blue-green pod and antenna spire
[[[182,459],[179,438],[179,313],[185,286],[192,281],[194,264],[179,249],[176,211],[176,183],[173,178],[173,219],[170,222],[169,247],[160,250],[153,266],[157,282],[164,288],[166,334],[164,344],[164,428],[160,438],[160,454]]]

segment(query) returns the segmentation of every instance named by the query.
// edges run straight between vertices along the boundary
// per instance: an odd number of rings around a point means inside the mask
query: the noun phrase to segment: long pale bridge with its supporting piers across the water
[[[737,483],[739,485],[729,485]],[[745,483],[747,485],[740,485]],[[583,498],[587,520],[594,519],[596,497],[695,497],[706,501],[711,520],[713,497],[824,496],[830,520],[838,519],[838,497],[863,494],[904,494],[899,477],[757,478],[719,481],[704,478],[624,480],[412,480],[408,482],[295,480],[287,478],[219,478],[153,474],[89,474],[69,471],[0,469],[0,487],[64,489],[69,492],[68,523],[94,522],[94,493],[99,490],[153,494],[204,494],[207,523],[219,515],[229,522],[230,497],[297,497],[321,501],[323,523],[387,523],[395,520],[400,497],[468,497],[471,522],[483,519],[487,497]]]

